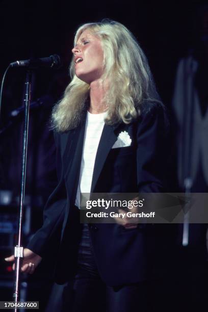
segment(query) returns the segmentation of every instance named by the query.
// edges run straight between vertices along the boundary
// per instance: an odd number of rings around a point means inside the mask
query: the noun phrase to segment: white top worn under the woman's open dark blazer
[[[79,209],[80,193],[90,193],[91,190],[95,157],[106,116],[107,112],[101,114],[91,114],[87,112],[80,179],[75,200],[75,205],[79,207]]]

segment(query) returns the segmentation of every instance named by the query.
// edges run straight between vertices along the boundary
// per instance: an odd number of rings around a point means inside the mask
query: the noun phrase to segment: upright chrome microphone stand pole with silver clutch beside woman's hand
[[[20,186],[20,199],[19,199],[19,216],[18,216],[18,234],[17,245],[14,247],[15,256],[15,281],[13,300],[15,303],[19,301],[20,293],[20,270],[23,259],[23,246],[22,246],[22,216],[23,216],[23,203],[24,203],[24,190],[25,190],[25,174],[27,165],[27,150],[28,150],[28,125],[29,125],[29,106],[31,100],[31,84],[32,72],[29,69],[25,79],[25,94],[24,94],[24,127],[22,137],[22,161],[21,161],[21,186]],[[18,308],[15,307],[14,311],[17,312]]]

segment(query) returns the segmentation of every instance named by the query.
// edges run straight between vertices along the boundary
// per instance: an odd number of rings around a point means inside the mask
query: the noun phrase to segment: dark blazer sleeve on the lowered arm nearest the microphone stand
[[[65,214],[67,195],[59,139],[59,135],[55,133],[58,185],[44,207],[42,227],[34,234],[27,246],[40,256],[44,256],[59,241]]]

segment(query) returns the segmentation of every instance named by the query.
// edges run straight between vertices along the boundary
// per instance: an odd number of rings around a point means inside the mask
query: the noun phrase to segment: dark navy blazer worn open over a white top
[[[146,102],[140,117],[131,124],[106,125],[98,145],[91,192],[162,192],[167,164],[168,121],[164,107]],[[44,256],[57,251],[55,280],[64,283],[74,276],[81,235],[75,209],[85,133],[83,123],[66,133],[56,133],[59,184],[44,209],[43,226],[28,248]],[[121,131],[132,138],[129,147],[112,146]],[[167,226],[138,225],[125,229],[118,224],[89,225],[92,248],[101,278],[108,285],[138,282],[162,269],[168,261]],[[159,229],[159,230],[158,230]],[[154,264],[154,265],[153,265]]]

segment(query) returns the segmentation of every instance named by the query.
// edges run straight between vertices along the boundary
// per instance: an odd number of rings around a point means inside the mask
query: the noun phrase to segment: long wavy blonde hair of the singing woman
[[[130,123],[139,116],[140,105],[145,100],[159,100],[143,50],[124,25],[111,20],[82,25],[76,31],[74,46],[86,29],[101,39],[105,69],[102,79],[108,79],[111,86],[105,95],[109,106],[105,123]],[[88,105],[90,85],[76,77],[73,58],[70,76],[71,82],[51,116],[52,127],[58,132],[78,126]]]

